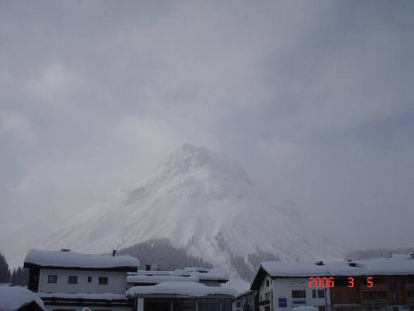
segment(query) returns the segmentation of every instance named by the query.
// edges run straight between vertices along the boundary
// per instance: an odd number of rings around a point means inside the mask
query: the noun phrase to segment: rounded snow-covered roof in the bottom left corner
[[[13,311],[35,301],[44,310],[44,303],[35,293],[20,286],[0,286],[0,310]]]

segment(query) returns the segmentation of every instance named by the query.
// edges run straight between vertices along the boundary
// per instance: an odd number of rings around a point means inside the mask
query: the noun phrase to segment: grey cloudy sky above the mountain
[[[0,235],[51,231],[189,143],[346,248],[413,246],[413,16],[413,1],[1,1]]]

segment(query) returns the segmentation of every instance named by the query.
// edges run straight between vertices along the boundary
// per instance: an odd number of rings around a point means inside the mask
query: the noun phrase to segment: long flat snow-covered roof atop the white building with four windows
[[[30,250],[25,257],[25,267],[53,267],[56,269],[96,269],[137,271],[139,260],[130,256],[91,255],[77,252]]]

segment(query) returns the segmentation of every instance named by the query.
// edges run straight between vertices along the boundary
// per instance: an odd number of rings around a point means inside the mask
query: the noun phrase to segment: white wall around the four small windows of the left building
[[[47,283],[49,275],[57,275],[58,283]],[[77,276],[77,284],[69,284],[68,276]],[[88,276],[92,282],[88,283]],[[99,285],[99,276],[108,277],[107,285]],[[125,295],[126,272],[41,269],[39,293],[114,293]]]

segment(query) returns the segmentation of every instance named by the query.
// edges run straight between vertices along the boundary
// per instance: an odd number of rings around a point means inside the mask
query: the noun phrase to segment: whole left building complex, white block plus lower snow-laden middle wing
[[[231,311],[225,269],[138,270],[129,256],[30,250],[29,289],[46,311]]]

